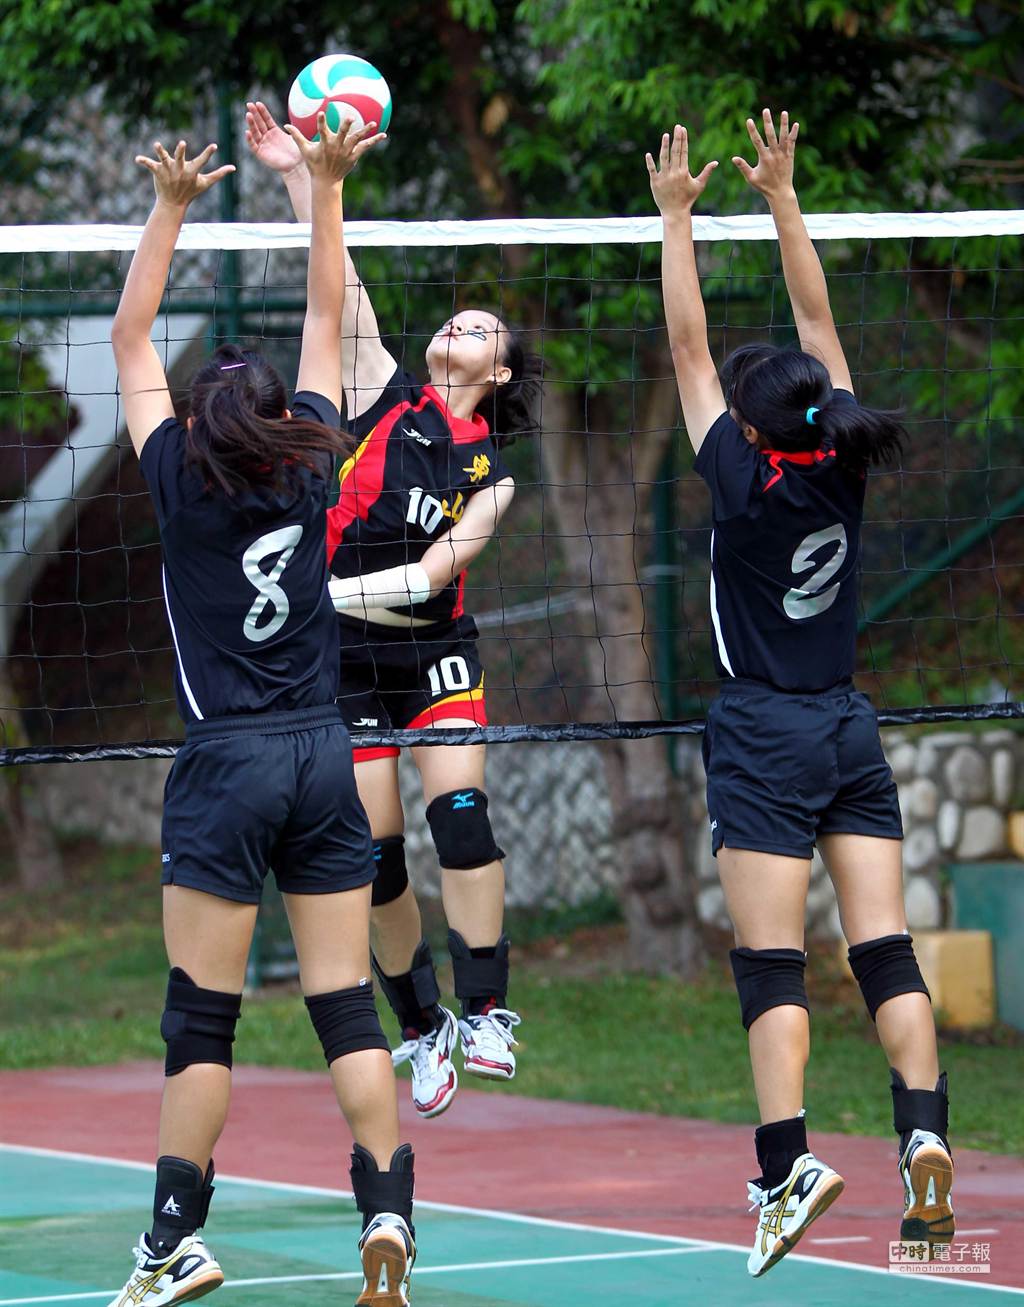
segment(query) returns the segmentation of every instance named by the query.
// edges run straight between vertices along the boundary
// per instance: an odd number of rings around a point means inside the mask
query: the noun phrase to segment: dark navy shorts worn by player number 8
[[[163,885],[259,903],[375,876],[352,742],[336,707],[212,718],[186,731],[163,791]]]

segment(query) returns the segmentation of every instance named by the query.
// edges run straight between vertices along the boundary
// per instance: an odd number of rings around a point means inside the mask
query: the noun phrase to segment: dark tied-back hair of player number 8
[[[348,455],[350,438],[282,417],[286,406],[284,382],[262,354],[221,345],[192,378],[187,461],[228,494],[252,485],[282,490],[297,467],[330,477],[331,464],[316,455]]]

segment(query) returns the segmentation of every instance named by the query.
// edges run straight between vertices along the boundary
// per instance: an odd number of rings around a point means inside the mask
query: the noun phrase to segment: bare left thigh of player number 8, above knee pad
[[[239,993],[256,924],[255,903],[235,903],[179,885],[163,887],[163,942],[173,967],[203,989]]]

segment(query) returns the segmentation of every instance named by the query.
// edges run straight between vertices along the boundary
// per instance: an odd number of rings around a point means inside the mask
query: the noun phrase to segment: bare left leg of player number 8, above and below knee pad
[[[167,958],[201,989],[242,992],[255,923],[255,903],[234,903],[179,885],[163,889]],[[205,1171],[224,1129],[230,1094],[226,1067],[200,1063],[169,1076],[160,1110],[160,1155],[184,1158]]]

